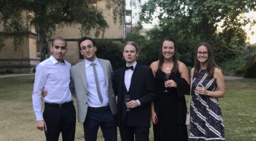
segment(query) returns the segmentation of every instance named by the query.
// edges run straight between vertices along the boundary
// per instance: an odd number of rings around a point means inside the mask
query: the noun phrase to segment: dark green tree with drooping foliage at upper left
[[[94,3],[97,0],[0,0],[0,24],[4,30],[0,34],[0,45],[3,38],[14,39],[18,45],[20,37],[35,28],[40,38],[41,60],[45,59],[49,38],[57,27],[77,26],[81,34],[88,34],[95,29],[95,36],[108,27],[108,23]],[[106,8],[113,10],[116,21],[123,21],[125,0],[108,0]],[[0,47],[0,48],[1,48]],[[17,47],[17,46],[15,46]]]

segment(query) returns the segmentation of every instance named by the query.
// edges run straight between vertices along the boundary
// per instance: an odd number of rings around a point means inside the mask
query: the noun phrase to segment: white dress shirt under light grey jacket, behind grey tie
[[[100,85],[100,92],[102,94],[103,102],[101,103],[99,100],[99,95],[97,93],[96,82],[93,73],[92,62],[84,59],[85,63],[85,72],[86,72],[86,82],[88,89],[88,106],[89,107],[103,107],[108,105],[108,87],[106,84],[106,80],[104,77],[104,71],[102,70],[102,66],[99,63],[99,60],[96,58],[93,63],[95,63],[95,68],[97,71],[97,76]]]

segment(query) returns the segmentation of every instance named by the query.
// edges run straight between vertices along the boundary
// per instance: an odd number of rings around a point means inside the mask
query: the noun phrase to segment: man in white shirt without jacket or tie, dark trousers
[[[52,56],[36,66],[33,87],[33,108],[38,130],[45,131],[46,140],[74,140],[76,132],[76,109],[69,89],[71,65],[63,59],[67,42],[54,38],[50,48]],[[42,91],[44,113],[42,112]]]

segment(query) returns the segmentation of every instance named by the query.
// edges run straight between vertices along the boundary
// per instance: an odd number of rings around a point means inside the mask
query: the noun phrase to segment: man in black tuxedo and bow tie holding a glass
[[[154,75],[148,66],[136,62],[138,45],[134,41],[125,43],[123,56],[126,65],[116,70],[113,77],[113,88],[118,95],[120,136],[122,141],[133,141],[134,138],[136,141],[148,141],[150,103],[156,98]],[[131,101],[125,104],[127,95]]]

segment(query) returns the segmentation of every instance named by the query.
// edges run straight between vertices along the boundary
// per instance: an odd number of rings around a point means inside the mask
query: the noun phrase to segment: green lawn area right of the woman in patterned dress
[[[256,140],[256,79],[225,82],[220,103],[226,140]]]

